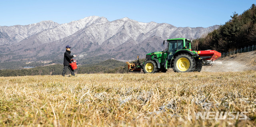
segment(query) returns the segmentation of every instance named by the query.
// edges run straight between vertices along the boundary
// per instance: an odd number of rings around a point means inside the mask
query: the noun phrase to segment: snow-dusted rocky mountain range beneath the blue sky
[[[171,24],[138,22],[129,18],[108,21],[90,16],[70,23],[42,21],[25,26],[0,26],[0,61],[38,61],[63,59],[71,46],[77,59],[104,56],[120,60],[144,58],[147,53],[166,48],[163,40],[208,34],[208,28],[175,27]]]

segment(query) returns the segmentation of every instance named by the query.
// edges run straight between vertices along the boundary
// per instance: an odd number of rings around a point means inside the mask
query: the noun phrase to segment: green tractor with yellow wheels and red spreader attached
[[[200,72],[203,65],[212,65],[214,60],[221,54],[215,50],[192,51],[191,40],[186,38],[176,38],[164,40],[167,42],[167,50],[162,52],[152,52],[146,54],[146,61],[128,64],[130,71],[142,71],[144,73],[166,72],[172,68],[174,72]]]

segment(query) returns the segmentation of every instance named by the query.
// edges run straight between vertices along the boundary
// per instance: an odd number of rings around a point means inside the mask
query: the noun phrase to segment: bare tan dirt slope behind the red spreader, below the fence
[[[202,71],[228,72],[256,70],[256,51],[235,54],[225,58],[219,58],[218,60],[216,60],[216,62],[222,62],[222,64],[203,66]]]

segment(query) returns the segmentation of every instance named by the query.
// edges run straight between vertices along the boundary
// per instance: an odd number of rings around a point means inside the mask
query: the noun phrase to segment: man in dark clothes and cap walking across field
[[[62,71],[62,76],[65,76],[65,73],[67,72],[67,69],[70,70],[71,75],[75,76],[74,70],[72,69],[72,67],[69,65],[70,64],[70,60],[72,60],[73,57],[76,57],[76,55],[70,55],[71,51],[70,51],[70,46],[66,46],[66,52],[64,53],[64,68]]]

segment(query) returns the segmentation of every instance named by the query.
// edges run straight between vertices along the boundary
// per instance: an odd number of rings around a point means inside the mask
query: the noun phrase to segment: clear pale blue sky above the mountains
[[[44,20],[59,24],[88,16],[109,21],[128,17],[139,22],[176,27],[225,24],[233,12],[242,14],[255,0],[0,0],[0,26],[28,25]]]

